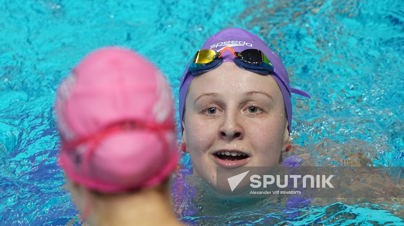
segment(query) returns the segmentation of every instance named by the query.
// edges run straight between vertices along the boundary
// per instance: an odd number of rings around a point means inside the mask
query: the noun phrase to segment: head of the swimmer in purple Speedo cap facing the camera
[[[179,89],[181,150],[216,188],[216,167],[276,166],[290,149],[291,93],[279,56],[256,35],[229,28],[210,37]]]

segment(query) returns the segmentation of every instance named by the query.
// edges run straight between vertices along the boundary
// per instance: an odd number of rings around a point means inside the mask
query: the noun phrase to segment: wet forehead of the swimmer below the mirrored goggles
[[[218,93],[236,98],[250,91],[263,91],[280,99],[282,93],[272,76],[243,70],[233,62],[222,63],[214,70],[196,76],[188,90],[189,97],[197,98],[202,93]]]

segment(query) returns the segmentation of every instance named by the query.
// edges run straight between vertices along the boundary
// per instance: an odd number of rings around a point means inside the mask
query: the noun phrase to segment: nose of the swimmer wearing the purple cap
[[[242,139],[244,136],[243,128],[238,124],[234,114],[228,114],[223,121],[223,125],[219,129],[219,137],[221,139]]]

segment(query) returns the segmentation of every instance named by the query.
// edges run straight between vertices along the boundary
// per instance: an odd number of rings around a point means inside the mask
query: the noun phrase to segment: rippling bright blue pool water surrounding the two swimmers
[[[303,165],[404,166],[401,1],[100,2],[0,1],[0,225],[80,225],[56,164],[52,106],[59,82],[86,53],[136,49],[161,68],[178,98],[187,61],[226,27],[263,38],[292,86],[312,95],[292,97],[288,155]],[[189,157],[182,163],[177,178],[189,174]],[[181,199],[173,194],[175,212],[189,225],[404,225],[403,200],[211,211],[192,188],[181,192]]]

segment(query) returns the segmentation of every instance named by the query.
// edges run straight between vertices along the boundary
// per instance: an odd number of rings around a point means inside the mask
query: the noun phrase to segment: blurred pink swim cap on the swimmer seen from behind
[[[59,164],[99,192],[155,186],[177,167],[173,99],[143,57],[106,47],[84,57],[57,91]]]

